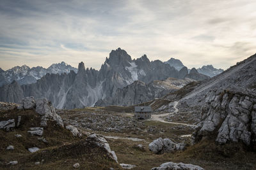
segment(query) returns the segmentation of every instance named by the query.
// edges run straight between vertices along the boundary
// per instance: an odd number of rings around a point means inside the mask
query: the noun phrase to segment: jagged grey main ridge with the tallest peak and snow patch
[[[49,99],[56,108],[83,108],[115,96],[117,89],[134,81],[149,83],[169,77],[179,78],[179,71],[160,60],[150,62],[146,55],[132,60],[125,50],[118,48],[109,53],[99,71],[85,69],[81,62],[77,73],[46,74],[29,85],[20,86],[13,81],[0,87],[0,101],[17,103],[24,97],[34,96]]]

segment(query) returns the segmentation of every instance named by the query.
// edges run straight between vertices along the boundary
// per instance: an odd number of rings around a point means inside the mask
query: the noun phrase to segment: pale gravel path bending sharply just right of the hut
[[[171,113],[163,113],[160,115],[152,115],[152,118],[150,118],[148,120],[162,122],[162,123],[166,123],[166,124],[187,125],[187,126],[195,127],[196,125],[183,124],[183,123],[179,123],[179,122],[167,122],[164,120],[164,117],[167,117],[168,115],[177,113],[179,111],[179,109],[177,108],[178,104],[179,104],[179,101],[173,102],[173,108],[175,109],[175,111],[173,111]]]

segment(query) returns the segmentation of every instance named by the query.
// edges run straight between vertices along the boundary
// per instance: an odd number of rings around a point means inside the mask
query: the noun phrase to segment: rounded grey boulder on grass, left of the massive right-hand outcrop
[[[183,150],[184,143],[174,143],[168,138],[158,138],[150,143],[148,148],[154,153],[172,153],[175,150]]]

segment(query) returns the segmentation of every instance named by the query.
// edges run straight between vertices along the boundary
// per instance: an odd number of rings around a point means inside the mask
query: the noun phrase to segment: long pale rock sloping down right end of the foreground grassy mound
[[[99,146],[100,148],[103,148],[104,150],[106,150],[106,152],[108,152],[108,155],[117,162],[117,157],[115,152],[112,152],[108,141],[106,141],[106,139],[104,138],[104,136],[99,135],[99,134],[90,134],[87,138],[86,141],[88,143],[92,143],[94,145]],[[117,162],[118,163],[118,162]]]

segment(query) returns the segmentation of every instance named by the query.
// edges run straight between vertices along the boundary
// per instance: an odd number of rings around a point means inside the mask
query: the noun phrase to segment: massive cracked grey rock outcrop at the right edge
[[[194,134],[195,141],[203,136],[216,136],[218,143],[256,140],[256,94],[251,90],[212,90],[202,106],[202,120]]]

